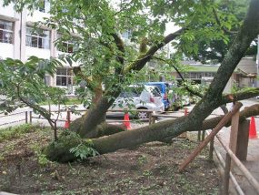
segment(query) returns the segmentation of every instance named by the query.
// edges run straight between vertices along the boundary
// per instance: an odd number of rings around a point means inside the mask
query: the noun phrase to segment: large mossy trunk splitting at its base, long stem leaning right
[[[185,131],[200,130],[203,128],[204,119],[207,118],[215,108],[224,104],[222,92],[224,87],[234,72],[234,68],[244,56],[247,48],[254,38],[259,34],[259,1],[252,0],[248,14],[244,20],[244,25],[237,34],[233,45],[230,47],[221,67],[219,67],[216,76],[208,88],[204,98],[194,107],[188,117],[178,118],[176,120],[167,120],[159,122],[152,126],[138,128],[131,131],[116,133],[112,136],[93,139],[94,148],[99,153],[115,151],[140,145],[154,140],[164,140],[174,138]],[[118,96],[119,91],[115,92]],[[254,94],[255,96],[255,94]],[[76,129],[82,138],[96,138],[96,127],[102,122],[105,112],[112,105],[113,101],[107,98],[101,98],[94,108],[81,119],[75,120],[72,128]],[[80,140],[75,141],[80,143]],[[57,149],[60,153],[56,154],[55,147],[48,147],[45,152],[50,159],[61,160],[68,155],[67,148]],[[71,144],[68,145],[68,148]],[[69,156],[69,155],[68,155]],[[69,159],[69,158],[68,158]],[[63,160],[63,159],[62,159]]]

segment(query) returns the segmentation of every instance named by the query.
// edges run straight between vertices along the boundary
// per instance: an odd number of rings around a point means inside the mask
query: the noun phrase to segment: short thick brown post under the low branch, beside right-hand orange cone
[[[249,125],[250,120],[244,120],[242,123],[239,124],[235,155],[240,160],[246,160],[247,158]]]

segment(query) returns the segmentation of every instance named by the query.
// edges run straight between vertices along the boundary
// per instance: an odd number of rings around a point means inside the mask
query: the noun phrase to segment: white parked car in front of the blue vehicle
[[[164,103],[158,87],[154,86],[130,86],[128,90],[121,92],[115,99],[110,109],[149,109],[152,111],[164,111]],[[137,118],[148,118],[148,113],[141,111],[136,113]]]

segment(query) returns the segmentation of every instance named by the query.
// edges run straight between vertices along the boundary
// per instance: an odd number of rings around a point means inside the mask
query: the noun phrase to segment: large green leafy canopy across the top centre
[[[5,4],[10,2],[5,0]],[[28,5],[29,9],[35,9],[41,5],[41,1],[14,2],[16,8]],[[57,0],[51,5],[51,16],[44,24],[60,35],[55,46],[62,50],[65,41],[74,44],[74,53],[63,59],[70,66],[77,61],[81,67],[80,74],[75,74],[75,81],[76,84],[87,83],[87,89],[78,90],[82,99],[89,99],[89,95],[91,99],[95,96],[95,88],[102,84],[105,97],[114,101],[118,95],[115,91],[124,90],[137,80],[137,72],[144,66],[135,67],[134,64],[144,57],[143,51],[164,40],[168,22],[185,29],[182,36],[176,38],[174,47],[187,56],[197,56],[202,41],[209,44],[215,39],[227,40],[222,28],[230,29],[236,24],[233,15],[227,10],[220,11],[219,4],[210,1]],[[221,26],[213,16],[214,10],[224,20]],[[123,37],[126,32],[128,39]],[[138,46],[145,49],[140,49],[139,53]]]

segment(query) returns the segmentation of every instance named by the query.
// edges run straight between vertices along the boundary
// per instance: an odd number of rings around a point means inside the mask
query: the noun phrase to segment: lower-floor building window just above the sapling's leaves
[[[56,86],[72,86],[73,70],[71,68],[60,68],[56,70]]]

